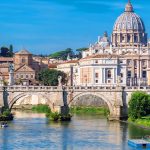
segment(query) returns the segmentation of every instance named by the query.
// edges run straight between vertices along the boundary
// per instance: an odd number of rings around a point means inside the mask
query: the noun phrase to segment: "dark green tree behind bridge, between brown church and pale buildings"
[[[58,85],[58,76],[62,77],[62,84],[66,83],[66,74],[62,71],[55,69],[44,69],[41,70],[38,74],[38,80],[42,84],[47,86],[57,86]]]

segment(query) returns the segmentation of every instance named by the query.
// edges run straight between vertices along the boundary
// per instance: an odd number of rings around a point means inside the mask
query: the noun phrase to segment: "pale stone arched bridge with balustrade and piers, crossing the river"
[[[93,95],[103,100],[109,110],[110,119],[127,116],[128,102],[132,92],[137,90],[150,93],[150,87],[55,87],[55,86],[6,86],[0,87],[0,108],[11,109],[18,101],[36,95],[44,99],[53,112],[64,112],[68,106],[80,97]],[[40,100],[36,104],[40,104]]]

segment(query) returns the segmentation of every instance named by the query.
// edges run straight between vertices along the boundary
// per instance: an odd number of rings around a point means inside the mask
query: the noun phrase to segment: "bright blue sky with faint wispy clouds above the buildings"
[[[150,33],[150,1],[131,0]],[[0,0],[0,46],[51,54],[112,33],[127,0]]]

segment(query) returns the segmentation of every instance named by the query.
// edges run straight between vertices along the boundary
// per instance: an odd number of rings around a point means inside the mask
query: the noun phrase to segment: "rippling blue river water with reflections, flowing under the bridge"
[[[9,127],[0,129],[0,150],[132,150],[128,138],[148,134],[102,116],[75,115],[69,123],[53,123],[44,114],[16,111]]]

